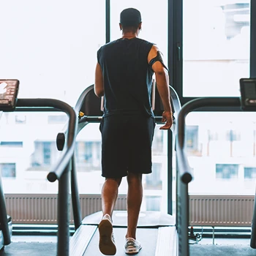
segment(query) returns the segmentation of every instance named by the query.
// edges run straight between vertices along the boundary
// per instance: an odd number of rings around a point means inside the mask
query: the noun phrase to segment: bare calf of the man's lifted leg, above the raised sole
[[[110,217],[113,213],[113,208],[116,204],[118,196],[118,187],[121,184],[121,178],[106,178],[102,187],[102,213],[109,214]]]

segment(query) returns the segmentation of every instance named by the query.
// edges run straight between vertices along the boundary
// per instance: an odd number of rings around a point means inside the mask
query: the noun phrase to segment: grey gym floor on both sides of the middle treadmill
[[[12,244],[6,246],[1,256],[51,256],[56,255],[56,236],[12,236]],[[249,239],[203,238],[189,246],[190,256],[255,256],[256,249],[249,246]],[[142,252],[142,251],[141,251]],[[140,253],[138,254],[140,255]],[[73,256],[73,255],[72,255]],[[75,255],[74,255],[75,256]],[[94,256],[94,255],[91,255]],[[171,256],[171,255],[170,255]]]

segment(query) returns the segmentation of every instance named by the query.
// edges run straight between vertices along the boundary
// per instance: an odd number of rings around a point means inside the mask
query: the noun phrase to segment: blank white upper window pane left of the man
[[[1,79],[20,80],[19,97],[74,105],[94,83],[105,43],[105,0],[1,1]]]

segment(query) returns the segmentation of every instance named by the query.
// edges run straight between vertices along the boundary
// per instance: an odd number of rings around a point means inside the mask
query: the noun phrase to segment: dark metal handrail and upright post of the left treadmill
[[[75,135],[78,126],[78,118],[75,110],[69,106],[66,102],[62,102],[58,99],[18,99],[15,111],[21,112],[48,112],[48,111],[61,111],[67,113],[69,121],[67,124],[67,147],[63,151],[59,162],[52,167],[52,171],[48,173],[48,180],[59,180],[59,193],[58,193],[58,239],[61,243],[58,243],[58,255],[69,254],[69,171],[70,158],[75,151]],[[1,186],[0,186],[1,187]],[[4,203],[4,194],[1,193],[1,203]],[[1,209],[2,210],[2,209]],[[0,211],[1,212],[1,211]],[[7,229],[8,222],[6,218],[6,212],[1,217],[1,226],[3,227],[4,237],[6,244],[10,244],[10,232]]]

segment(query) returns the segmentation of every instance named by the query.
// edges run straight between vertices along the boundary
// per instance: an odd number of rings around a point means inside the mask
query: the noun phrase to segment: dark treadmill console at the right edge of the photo
[[[241,108],[256,111],[256,78],[241,78]]]

